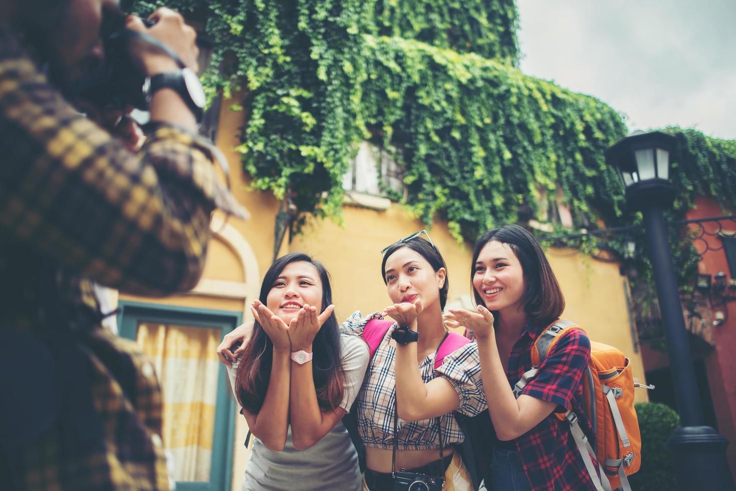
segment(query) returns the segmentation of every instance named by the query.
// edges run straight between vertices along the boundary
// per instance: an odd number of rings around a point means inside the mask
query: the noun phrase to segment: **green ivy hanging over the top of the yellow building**
[[[459,240],[521,214],[543,221],[558,187],[575,227],[636,219],[603,158],[626,134],[622,118],[515,68],[512,0],[166,3],[215,40],[208,93],[242,94],[244,170],[253,188],[289,195],[297,227],[339,217],[342,177],[364,139],[402,167],[408,209],[447,219]],[[668,131],[679,140],[675,215],[698,194],[735,203],[735,142]]]

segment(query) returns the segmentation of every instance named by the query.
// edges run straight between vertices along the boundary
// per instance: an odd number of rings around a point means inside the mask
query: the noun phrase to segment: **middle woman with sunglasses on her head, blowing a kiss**
[[[435,364],[447,338],[442,321],[447,268],[436,247],[420,239],[420,233],[384,250],[381,274],[392,304],[365,318],[355,312],[342,327],[367,338],[366,331],[375,325],[370,321],[386,316],[395,321],[379,338],[358,395],[358,433],[366,449],[364,490],[409,489],[414,474],[444,480],[443,490],[473,489],[455,452],[464,436],[453,411],[474,416],[486,410],[478,350],[470,342],[447,353],[441,365]],[[394,487],[394,468],[406,470],[401,475],[408,476],[409,481],[403,481],[406,487]]]

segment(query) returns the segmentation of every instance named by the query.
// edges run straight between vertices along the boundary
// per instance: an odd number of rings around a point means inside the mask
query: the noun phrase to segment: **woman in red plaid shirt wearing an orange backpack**
[[[475,243],[471,278],[477,311],[449,309],[447,325],[475,333],[488,411],[500,442],[491,464],[495,490],[593,490],[567,421],[571,410],[590,437],[581,379],[590,340],[567,331],[545,357],[518,398],[512,386],[532,367],[531,348],[555,322],[565,299],[541,247],[523,227],[506,225]],[[492,397],[491,397],[492,396]]]

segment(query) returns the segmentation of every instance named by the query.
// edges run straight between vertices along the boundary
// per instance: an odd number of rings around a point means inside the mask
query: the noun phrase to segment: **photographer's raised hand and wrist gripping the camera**
[[[197,73],[197,32],[184,23],[184,18],[167,8],[160,8],[150,17],[156,21],[152,27],[146,27],[141,18],[131,15],[125,21],[125,27],[133,31],[142,32],[156,38],[169,46],[191,71]],[[161,74],[166,71],[179,69],[177,63],[168,54],[158,49],[146,48],[144,43],[131,43],[131,57],[136,60],[147,76]],[[196,131],[197,119],[178,93],[169,88],[156,91],[149,105],[151,121],[177,124],[189,130]]]

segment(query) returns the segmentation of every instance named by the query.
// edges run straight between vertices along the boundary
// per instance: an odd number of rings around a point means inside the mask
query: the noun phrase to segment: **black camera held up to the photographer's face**
[[[144,20],[151,27],[154,21]],[[146,74],[130,57],[130,43],[140,42],[130,30],[125,29],[122,10],[107,5],[102,11],[100,27],[105,62],[91,70],[79,83],[76,96],[96,107],[147,109],[143,95]]]

